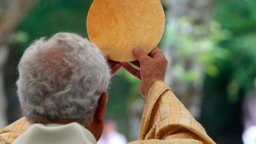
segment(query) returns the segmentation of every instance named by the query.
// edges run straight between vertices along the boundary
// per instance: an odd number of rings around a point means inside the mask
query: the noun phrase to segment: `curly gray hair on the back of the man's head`
[[[90,124],[111,77],[96,45],[66,32],[32,43],[20,60],[19,72],[20,105],[32,123],[46,118]]]

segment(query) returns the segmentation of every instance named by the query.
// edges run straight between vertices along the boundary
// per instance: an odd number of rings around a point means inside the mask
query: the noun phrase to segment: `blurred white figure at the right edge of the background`
[[[256,144],[256,78],[254,78],[254,92],[247,95],[243,101],[243,144]]]

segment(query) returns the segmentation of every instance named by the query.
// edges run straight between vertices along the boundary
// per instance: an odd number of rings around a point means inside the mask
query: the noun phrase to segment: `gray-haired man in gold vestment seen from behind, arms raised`
[[[18,96],[26,118],[0,130],[0,141],[96,144],[102,135],[109,80],[123,66],[141,79],[146,101],[140,140],[131,144],[214,143],[164,83],[167,61],[160,50],[150,56],[139,48],[133,53],[140,71],[108,60],[96,45],[75,34],[61,32],[36,41],[19,65]]]

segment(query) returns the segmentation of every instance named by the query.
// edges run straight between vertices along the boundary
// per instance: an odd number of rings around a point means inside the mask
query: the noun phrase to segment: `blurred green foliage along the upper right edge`
[[[220,62],[223,71],[230,72],[227,86],[230,101],[239,100],[239,91],[253,90],[256,77],[256,1],[226,0],[218,4],[216,20],[230,32],[221,46],[230,51],[230,58]]]

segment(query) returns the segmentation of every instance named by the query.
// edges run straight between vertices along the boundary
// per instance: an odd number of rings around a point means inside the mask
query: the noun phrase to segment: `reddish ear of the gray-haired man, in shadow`
[[[107,101],[108,101],[108,93],[104,91],[102,93],[100,100],[98,101],[98,107],[96,109],[95,116],[94,116],[97,120],[99,120],[99,122],[104,123]]]

